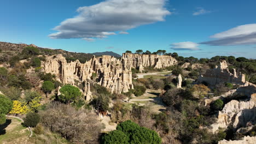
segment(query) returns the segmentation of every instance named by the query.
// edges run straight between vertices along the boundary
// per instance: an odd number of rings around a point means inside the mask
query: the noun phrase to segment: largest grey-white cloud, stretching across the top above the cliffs
[[[62,21],[52,39],[107,38],[117,31],[164,21],[171,12],[167,0],[107,0],[77,9],[78,15]]]

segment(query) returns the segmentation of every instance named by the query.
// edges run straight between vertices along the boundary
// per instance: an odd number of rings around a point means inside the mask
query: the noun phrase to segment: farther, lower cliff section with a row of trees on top
[[[143,67],[161,69],[177,63],[177,60],[171,56],[140,55],[133,53],[123,53],[122,61],[124,68],[139,68],[139,70],[143,70]]]

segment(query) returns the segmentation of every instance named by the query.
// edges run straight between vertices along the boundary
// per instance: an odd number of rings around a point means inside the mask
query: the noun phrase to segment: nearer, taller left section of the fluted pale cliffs
[[[43,63],[45,73],[57,75],[63,83],[74,85],[84,82],[84,93],[89,94],[88,79],[96,75],[97,83],[108,88],[111,92],[127,92],[132,86],[131,70],[123,69],[121,61],[112,56],[93,57],[82,64],[78,60],[67,63],[62,55],[50,56]]]

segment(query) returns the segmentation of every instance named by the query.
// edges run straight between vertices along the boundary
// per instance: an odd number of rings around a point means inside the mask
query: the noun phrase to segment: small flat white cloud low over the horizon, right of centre
[[[197,47],[199,44],[193,43],[191,41],[173,43],[171,46],[171,49],[173,50],[200,50],[199,47]]]

